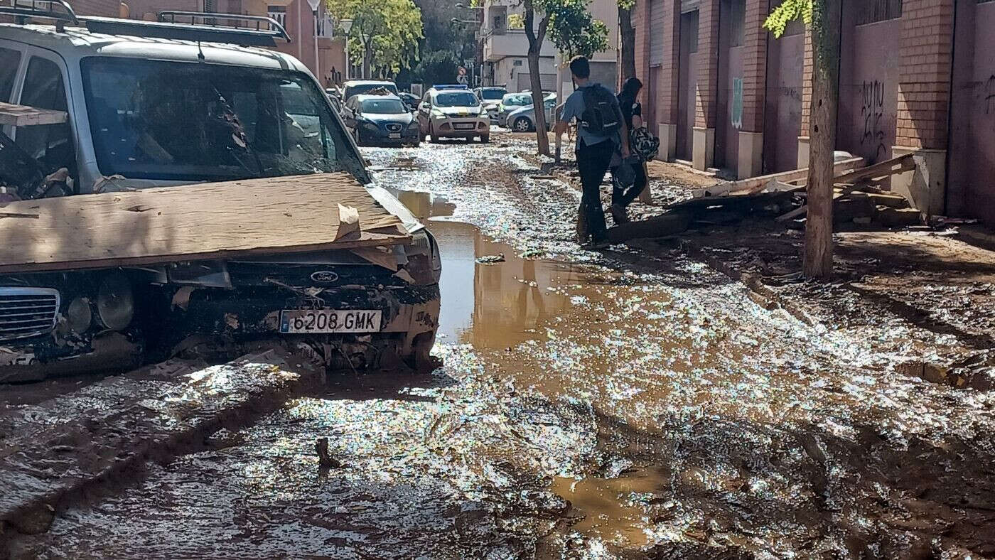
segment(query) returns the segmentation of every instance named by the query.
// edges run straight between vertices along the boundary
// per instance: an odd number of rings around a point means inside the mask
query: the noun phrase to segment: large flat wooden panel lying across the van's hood
[[[335,240],[338,204],[360,231]],[[400,245],[401,221],[345,173],[20,201],[0,208],[0,272],[99,269]]]

